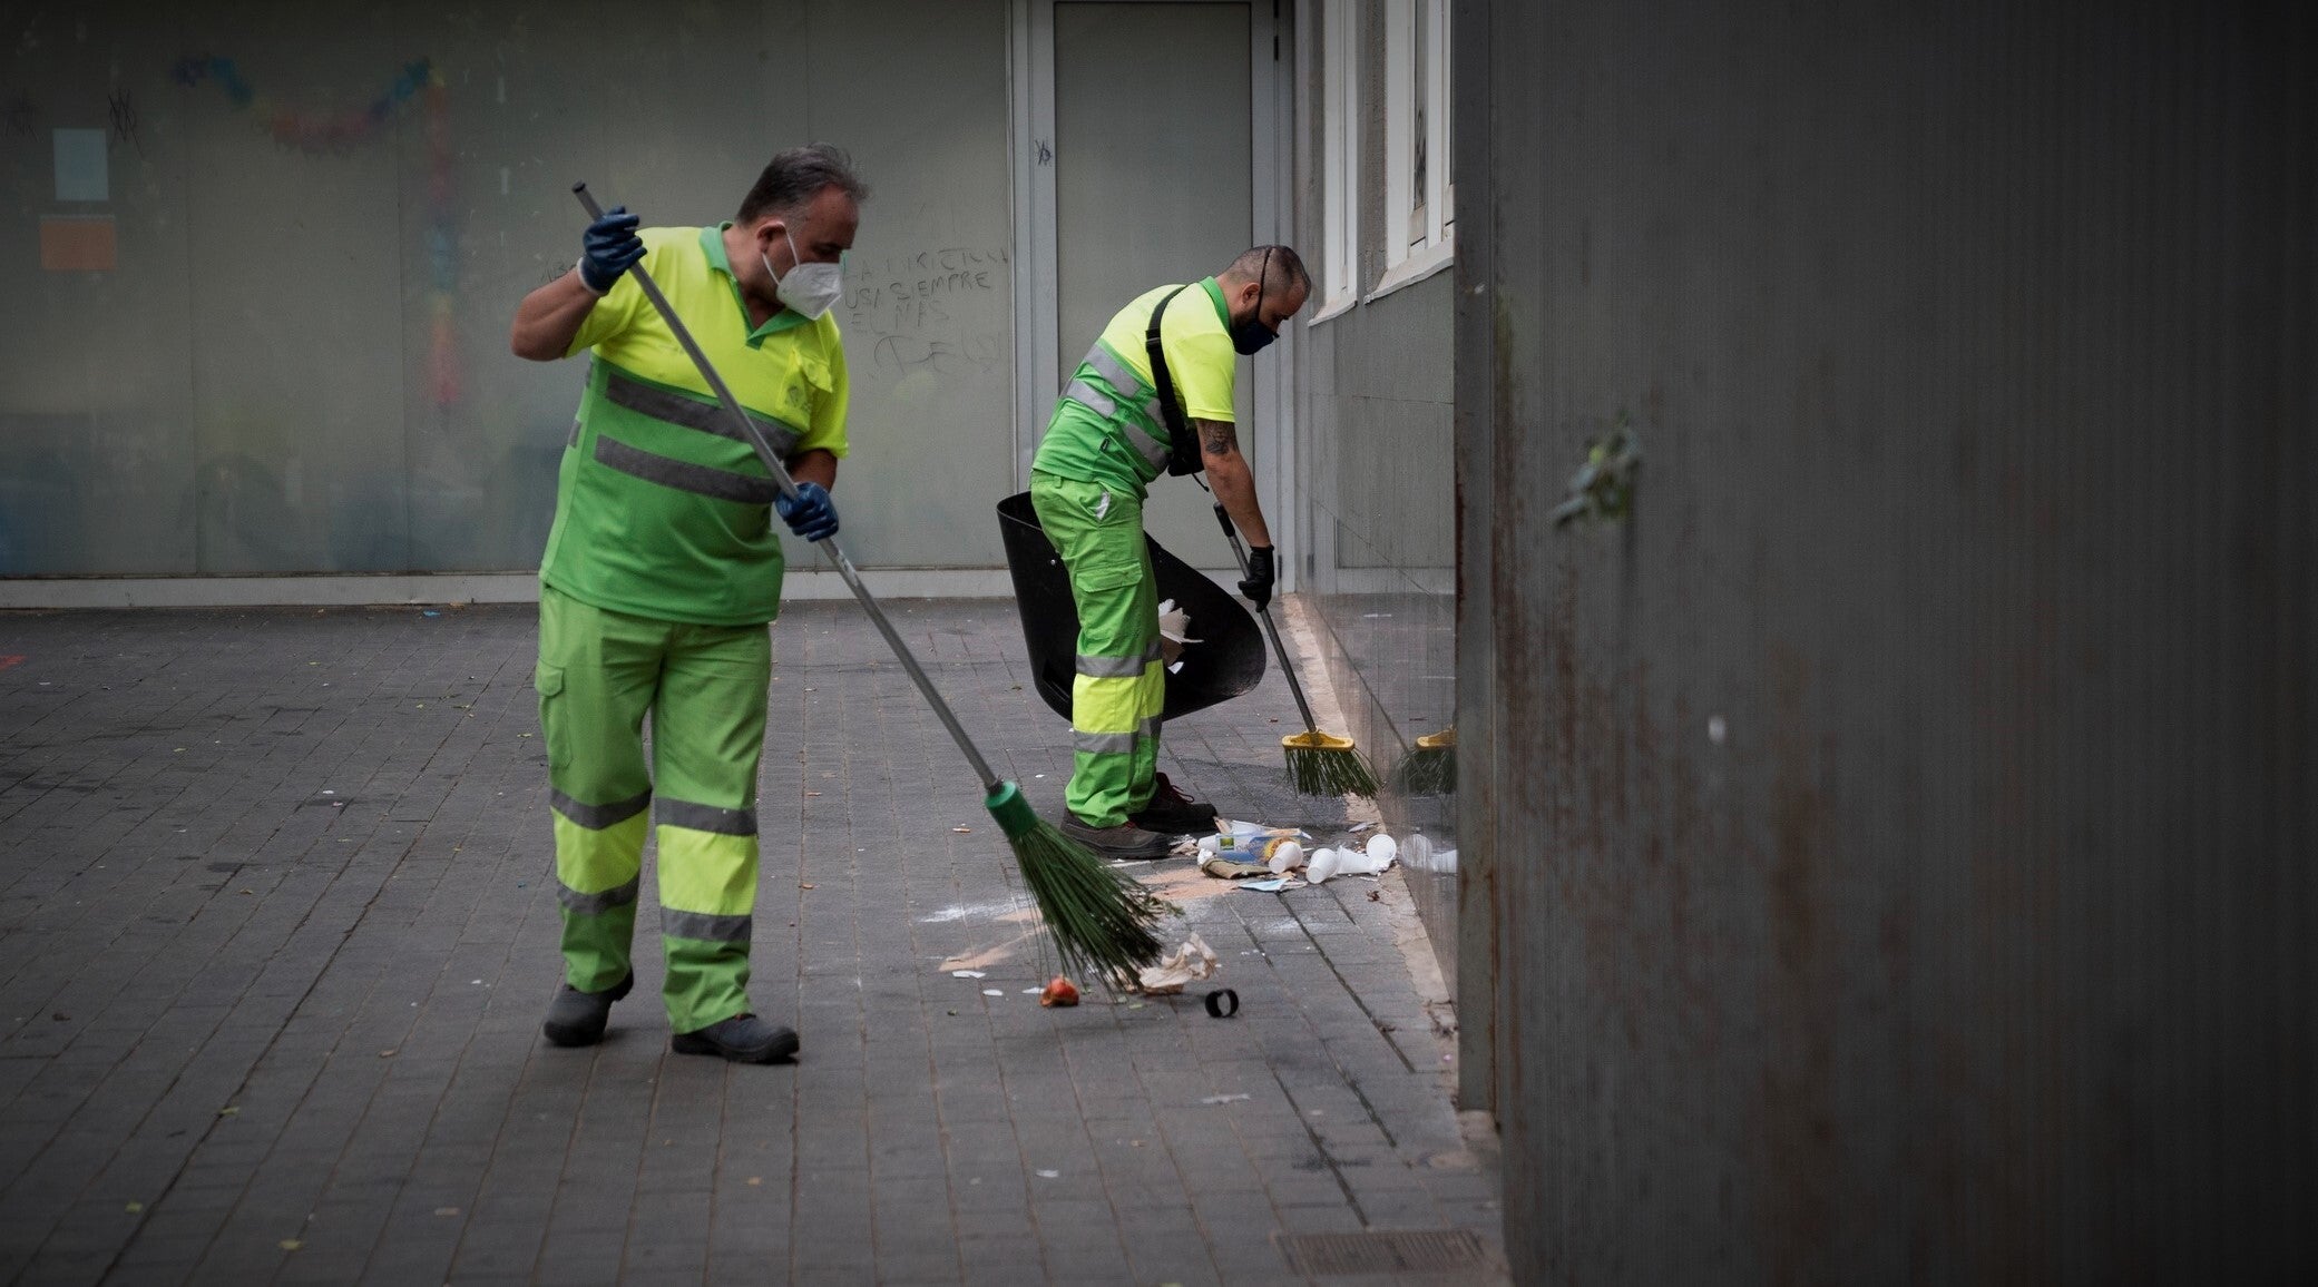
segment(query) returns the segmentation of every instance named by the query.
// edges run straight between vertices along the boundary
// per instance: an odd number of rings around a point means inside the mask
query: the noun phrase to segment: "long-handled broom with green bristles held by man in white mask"
[[[586,208],[591,220],[603,218],[603,208],[596,197],[589,194],[586,183],[573,183],[573,197]],[[726,387],[723,377],[709,363],[709,356],[700,352],[693,333],[684,329],[684,319],[670,308],[668,296],[661,294],[658,282],[642,264],[628,269],[635,275],[635,285],[644,289],[644,299],[651,308],[661,312],[668,322],[670,333],[691,354],[693,366],[700,368],[700,377],[707,380],[716,400],[732,417],[732,424],[742,431],[742,440],[756,449],[756,458],[765,463],[765,472],[772,475],[772,484],[781,488],[783,498],[797,498],[797,484],[788,477],[788,465],[781,456],[765,442],[763,431],[758,431],[756,419],[742,410],[739,398]],[[860,600],[862,611],[876,625],[879,634],[885,637],[885,646],[892,648],[895,660],[909,671],[911,683],[925,694],[927,706],[941,718],[941,727],[950,731],[957,750],[964,752],[967,764],[983,782],[983,808],[997,819],[999,831],[1006,833],[1006,843],[1013,845],[1015,863],[1022,868],[1022,882],[1029,884],[1032,898],[1038,903],[1038,914],[1045,919],[1048,931],[1055,935],[1055,949],[1062,954],[1064,965],[1078,965],[1087,975],[1101,975],[1113,984],[1131,984],[1136,972],[1159,958],[1159,935],[1154,926],[1161,917],[1171,914],[1175,907],[1164,898],[1145,889],[1134,877],[1120,873],[1103,859],[1099,859],[1085,845],[1069,840],[1062,831],[1055,831],[1050,822],[1029,808],[1022,799],[1022,787],[1001,780],[983,752],[967,736],[967,729],[957,725],[957,715],[950,713],[950,704],[941,699],[934,690],[934,681],[925,676],[918,667],[918,657],[911,655],[909,646],[902,644],[902,634],[895,632],[892,623],[885,618],[885,609],[869,597],[869,588],[862,586],[860,572],[846,551],[837,546],[837,537],[823,537],[814,542],[821,553],[828,556],[830,565],[837,567],[837,576],[844,579],[853,597]]]

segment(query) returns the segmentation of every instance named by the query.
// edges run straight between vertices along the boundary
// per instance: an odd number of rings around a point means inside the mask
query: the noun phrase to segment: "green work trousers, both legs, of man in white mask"
[[[668,1025],[693,1032],[749,1009],[770,681],[765,625],[654,620],[540,588],[535,683],[570,986],[600,993],[628,975],[649,810],[661,824]]]

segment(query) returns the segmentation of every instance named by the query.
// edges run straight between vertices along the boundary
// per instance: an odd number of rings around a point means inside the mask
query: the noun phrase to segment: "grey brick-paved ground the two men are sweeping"
[[[892,613],[1052,815],[1069,729],[1013,604]],[[533,646],[531,609],[0,613],[0,1280],[1298,1282],[1328,1248],[1282,1238],[1361,1229],[1495,1257],[1398,880],[1140,868],[1240,1014],[1041,1009],[981,787],[853,604],[774,627],[751,995],[802,1060],[668,1053],[649,870],[637,993],[545,1046]],[[1342,826],[1286,794],[1282,718],[1270,681],[1178,720],[1166,768]]]

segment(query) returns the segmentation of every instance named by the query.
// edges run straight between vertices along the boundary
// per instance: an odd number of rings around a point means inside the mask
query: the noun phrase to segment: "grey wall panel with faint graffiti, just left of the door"
[[[846,269],[855,560],[1006,562],[1015,491],[1013,178],[1006,7],[816,0],[814,134],[876,190]],[[790,562],[821,562],[802,544]]]

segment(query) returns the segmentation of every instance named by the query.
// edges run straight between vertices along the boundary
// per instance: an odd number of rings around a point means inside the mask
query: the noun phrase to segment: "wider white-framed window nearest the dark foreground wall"
[[[1375,294],[1456,257],[1449,0],[1384,0],[1384,278]]]

